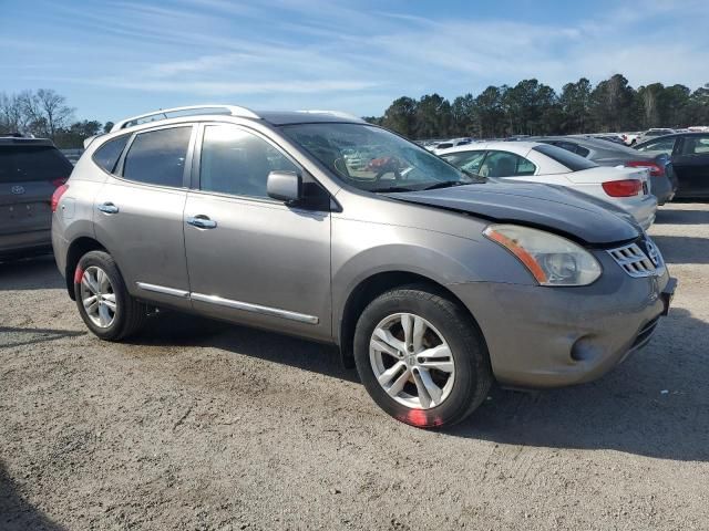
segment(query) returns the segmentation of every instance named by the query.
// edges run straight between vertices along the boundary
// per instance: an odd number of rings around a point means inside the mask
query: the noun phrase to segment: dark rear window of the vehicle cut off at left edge
[[[72,169],[53,146],[0,146],[0,183],[68,179]]]

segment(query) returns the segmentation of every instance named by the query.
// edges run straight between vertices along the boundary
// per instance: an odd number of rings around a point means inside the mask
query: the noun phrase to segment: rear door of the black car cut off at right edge
[[[709,197],[709,135],[685,136],[672,156],[678,194]]]

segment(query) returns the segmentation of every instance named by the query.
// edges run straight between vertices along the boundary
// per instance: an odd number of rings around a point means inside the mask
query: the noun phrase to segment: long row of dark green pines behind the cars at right
[[[653,83],[637,90],[621,74],[593,85],[582,77],[559,94],[537,80],[489,86],[450,102],[439,94],[402,96],[383,116],[368,116],[409,138],[566,135],[709,125],[709,83],[691,91]]]

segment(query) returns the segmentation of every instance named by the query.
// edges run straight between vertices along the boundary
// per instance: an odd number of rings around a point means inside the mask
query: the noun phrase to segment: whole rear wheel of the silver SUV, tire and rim
[[[74,294],[81,319],[102,340],[119,341],[137,332],[146,308],[133,299],[111,254],[91,251],[79,260]]]

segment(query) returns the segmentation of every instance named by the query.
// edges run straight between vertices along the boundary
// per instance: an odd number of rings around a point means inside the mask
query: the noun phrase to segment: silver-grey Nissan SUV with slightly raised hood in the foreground
[[[335,343],[377,404],[421,427],[461,420],[494,381],[600,376],[648,342],[675,287],[626,218],[485,183],[339,113],[130,118],[54,205],[56,263],[99,337],[166,306]]]

